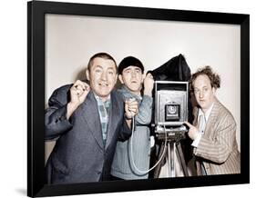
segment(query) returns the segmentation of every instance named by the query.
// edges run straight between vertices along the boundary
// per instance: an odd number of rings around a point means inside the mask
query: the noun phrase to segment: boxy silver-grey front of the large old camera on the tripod
[[[189,116],[189,83],[155,82],[156,133],[187,131],[183,125]]]

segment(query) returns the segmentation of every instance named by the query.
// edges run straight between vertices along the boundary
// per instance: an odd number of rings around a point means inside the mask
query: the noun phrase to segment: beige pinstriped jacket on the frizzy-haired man
[[[197,125],[195,108],[194,125]],[[194,148],[197,170],[202,162],[207,174],[241,173],[241,155],[236,142],[236,123],[230,111],[216,99],[200,143]]]

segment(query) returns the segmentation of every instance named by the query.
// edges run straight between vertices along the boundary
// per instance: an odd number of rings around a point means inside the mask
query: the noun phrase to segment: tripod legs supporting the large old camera
[[[189,176],[188,169],[185,163],[184,154],[180,145],[180,140],[185,138],[185,132],[175,132],[175,133],[156,133],[157,138],[161,142],[159,149],[158,158],[163,155],[158,166],[154,172],[154,178],[159,178],[159,173],[161,167],[164,165],[164,159],[166,159],[169,167],[169,177],[175,177],[175,153],[177,153],[179,164],[181,165],[182,172],[184,176]],[[165,149],[166,147],[166,149]]]

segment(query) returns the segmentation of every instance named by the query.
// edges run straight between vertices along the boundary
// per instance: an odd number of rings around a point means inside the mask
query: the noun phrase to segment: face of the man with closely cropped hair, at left
[[[103,101],[117,83],[118,74],[113,60],[96,57],[87,70],[87,79],[90,81],[91,90]]]

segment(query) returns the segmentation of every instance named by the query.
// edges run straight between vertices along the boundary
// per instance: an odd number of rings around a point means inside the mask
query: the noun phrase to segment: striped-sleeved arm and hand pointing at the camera
[[[224,163],[233,149],[236,135],[236,123],[231,114],[218,114],[214,124],[200,134],[199,129],[188,122],[189,137],[194,141],[194,154],[214,163]],[[213,134],[209,138],[206,134]],[[195,143],[197,142],[197,143]]]

